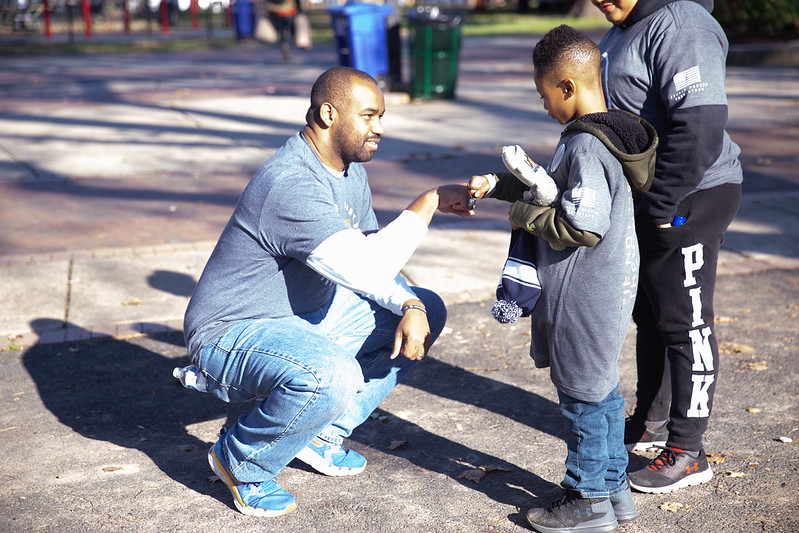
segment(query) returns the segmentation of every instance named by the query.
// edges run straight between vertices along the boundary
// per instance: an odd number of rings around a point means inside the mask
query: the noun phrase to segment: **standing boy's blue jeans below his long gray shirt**
[[[558,391],[566,417],[566,475],[561,484],[583,498],[607,498],[627,488],[624,398],[619,387],[598,402]]]

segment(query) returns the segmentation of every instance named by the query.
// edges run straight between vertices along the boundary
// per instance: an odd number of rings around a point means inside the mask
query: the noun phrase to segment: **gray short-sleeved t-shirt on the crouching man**
[[[335,285],[306,265],[322,241],[378,229],[366,171],[332,174],[300,133],[253,176],[200,277],[184,320],[194,358],[240,320],[307,313]]]

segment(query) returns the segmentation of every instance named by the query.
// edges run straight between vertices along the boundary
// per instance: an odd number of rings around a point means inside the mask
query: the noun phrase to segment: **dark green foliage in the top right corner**
[[[713,16],[732,41],[799,37],[799,0],[716,0]]]

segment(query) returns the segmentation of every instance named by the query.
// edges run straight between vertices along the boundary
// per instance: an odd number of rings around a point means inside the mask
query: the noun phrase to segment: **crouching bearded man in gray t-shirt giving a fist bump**
[[[207,391],[258,401],[208,454],[244,514],[295,509],[276,480],[295,457],[331,476],[363,471],[343,439],[444,327],[441,299],[399,271],[437,209],[473,214],[469,193],[431,189],[378,230],[361,163],[384,110],[368,74],[323,73],[307,124],[245,188],[189,302],[186,345]]]

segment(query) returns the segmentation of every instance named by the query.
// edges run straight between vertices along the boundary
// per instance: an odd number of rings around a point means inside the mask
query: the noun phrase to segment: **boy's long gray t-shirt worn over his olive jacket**
[[[536,366],[551,367],[559,390],[596,402],[619,382],[638,286],[630,185],[618,160],[589,133],[564,135],[547,171],[563,191],[560,207],[569,222],[601,239],[561,251],[536,239],[542,293],[532,313],[530,351]]]

